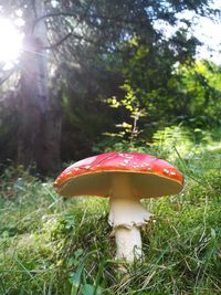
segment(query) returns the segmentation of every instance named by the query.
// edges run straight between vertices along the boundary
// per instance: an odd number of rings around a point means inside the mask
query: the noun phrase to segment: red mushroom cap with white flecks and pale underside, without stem
[[[139,199],[176,194],[183,176],[169,162],[140,152],[105,152],[67,167],[54,181],[62,196],[108,197],[113,173],[128,173]]]

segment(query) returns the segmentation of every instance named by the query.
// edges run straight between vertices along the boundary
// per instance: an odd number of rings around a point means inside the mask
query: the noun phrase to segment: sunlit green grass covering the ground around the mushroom
[[[63,200],[52,180],[7,168],[0,178],[0,294],[221,294],[221,146],[210,140],[192,143],[191,152],[166,151],[187,186],[179,196],[145,201],[155,213],[143,231],[145,259],[126,265],[126,274],[113,259],[106,199]]]

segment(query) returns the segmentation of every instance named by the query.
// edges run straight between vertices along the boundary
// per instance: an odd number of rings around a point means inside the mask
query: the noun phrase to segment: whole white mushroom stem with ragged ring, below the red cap
[[[140,228],[152,215],[136,197],[129,173],[116,173],[109,192],[109,218],[116,239],[116,259],[134,262],[141,257]]]

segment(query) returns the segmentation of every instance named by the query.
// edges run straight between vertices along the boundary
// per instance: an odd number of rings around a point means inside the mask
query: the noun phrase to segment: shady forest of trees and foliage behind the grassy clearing
[[[167,127],[220,127],[221,65],[197,57],[202,44],[191,30],[197,17],[219,21],[210,1],[0,2],[2,17],[18,10],[23,50],[12,69],[0,64],[1,168],[51,173],[105,150],[151,146]]]

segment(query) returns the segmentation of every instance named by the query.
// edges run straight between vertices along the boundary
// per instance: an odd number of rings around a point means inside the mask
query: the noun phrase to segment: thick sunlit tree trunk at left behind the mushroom
[[[45,46],[46,28],[41,21],[24,39],[18,136],[18,162],[43,173],[57,169],[61,138],[59,97],[49,96]]]

